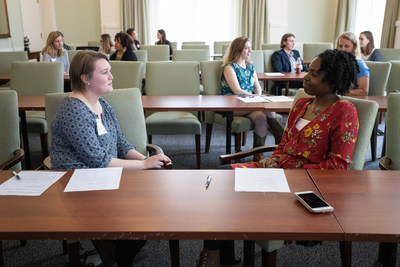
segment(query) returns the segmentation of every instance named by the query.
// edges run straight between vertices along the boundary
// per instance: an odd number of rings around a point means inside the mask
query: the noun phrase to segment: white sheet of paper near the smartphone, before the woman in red
[[[283,169],[236,168],[235,191],[290,193]]]

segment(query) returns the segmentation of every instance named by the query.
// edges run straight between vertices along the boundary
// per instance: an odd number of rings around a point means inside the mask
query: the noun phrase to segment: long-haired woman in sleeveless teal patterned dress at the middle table
[[[262,94],[260,83],[253,63],[250,62],[251,41],[247,37],[233,40],[222,63],[221,95],[256,95]],[[234,116],[246,116],[254,123],[253,146],[265,144],[268,127],[271,128],[278,144],[283,128],[276,119],[275,112],[234,111]],[[261,156],[261,155],[259,155]]]

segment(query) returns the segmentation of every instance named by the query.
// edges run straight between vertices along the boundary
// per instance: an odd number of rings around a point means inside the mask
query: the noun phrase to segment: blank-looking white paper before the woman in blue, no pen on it
[[[64,192],[115,190],[119,188],[122,167],[75,170]]]

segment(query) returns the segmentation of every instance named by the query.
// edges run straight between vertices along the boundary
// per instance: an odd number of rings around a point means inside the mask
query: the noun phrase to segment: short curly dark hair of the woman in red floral
[[[352,53],[328,49],[318,57],[321,59],[318,72],[325,73],[325,81],[333,85],[333,92],[345,95],[350,88],[358,86],[357,75],[360,67]]]

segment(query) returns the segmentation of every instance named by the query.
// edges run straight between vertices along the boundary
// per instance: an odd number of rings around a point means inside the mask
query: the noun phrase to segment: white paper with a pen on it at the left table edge
[[[13,176],[0,185],[0,195],[40,196],[64,174],[65,172],[20,171],[20,180]]]

